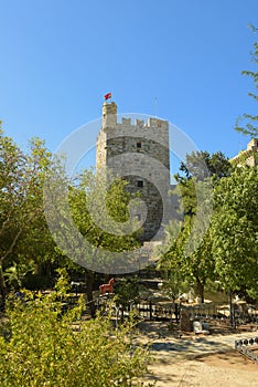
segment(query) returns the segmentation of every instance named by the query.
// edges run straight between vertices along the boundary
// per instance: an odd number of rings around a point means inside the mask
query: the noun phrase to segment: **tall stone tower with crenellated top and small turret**
[[[170,206],[169,123],[158,118],[148,122],[121,118],[117,105],[105,102],[103,124],[97,138],[96,167],[110,168],[114,176],[128,180],[127,189],[140,192],[146,203],[143,241],[160,240],[164,212]]]

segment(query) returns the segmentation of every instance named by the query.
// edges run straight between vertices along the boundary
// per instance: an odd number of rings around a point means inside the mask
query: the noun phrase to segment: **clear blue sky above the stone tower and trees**
[[[3,129],[55,150],[112,92],[119,113],[154,114],[157,97],[159,117],[232,157],[248,142],[237,116],[257,113],[248,23],[257,0],[0,0]]]

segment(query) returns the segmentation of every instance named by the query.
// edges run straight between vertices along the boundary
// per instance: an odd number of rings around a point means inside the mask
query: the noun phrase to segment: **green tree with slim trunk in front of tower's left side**
[[[117,269],[116,253],[120,253],[119,263],[125,269],[130,262],[123,259],[123,252],[140,245],[133,231],[136,221],[128,219],[131,196],[125,189],[126,181],[115,180],[107,186],[105,176],[89,170],[72,180],[61,167],[47,177],[46,184],[47,222],[63,254],[85,268],[87,299],[94,315],[94,272],[112,273]]]

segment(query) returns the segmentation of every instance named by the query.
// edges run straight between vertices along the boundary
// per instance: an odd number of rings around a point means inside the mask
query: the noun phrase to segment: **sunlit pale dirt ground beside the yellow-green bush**
[[[158,322],[141,323],[139,330],[138,339],[150,344],[153,356],[147,381],[157,387],[258,387],[258,364],[232,345],[239,335],[258,336],[257,326],[232,330],[215,322],[203,337]]]

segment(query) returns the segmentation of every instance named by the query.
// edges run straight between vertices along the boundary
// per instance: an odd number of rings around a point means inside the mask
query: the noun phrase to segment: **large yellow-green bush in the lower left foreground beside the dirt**
[[[62,314],[56,294],[7,303],[0,332],[2,387],[142,386],[148,352],[133,346],[130,324],[82,321],[83,302]],[[3,318],[2,318],[3,321]]]

